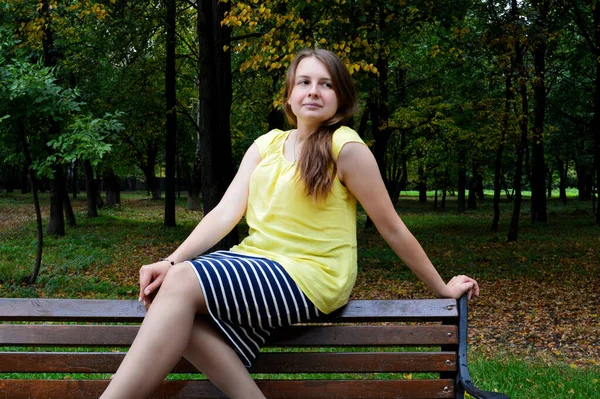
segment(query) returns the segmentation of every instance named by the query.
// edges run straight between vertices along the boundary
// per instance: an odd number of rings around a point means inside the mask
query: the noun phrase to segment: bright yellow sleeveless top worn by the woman
[[[335,177],[326,200],[307,197],[296,163],[283,156],[290,131],[273,130],[255,143],[262,161],[250,177],[249,235],[231,248],[272,259],[323,313],[348,302],[356,280],[356,199]],[[363,143],[348,127],[335,131],[334,159],[348,142]]]

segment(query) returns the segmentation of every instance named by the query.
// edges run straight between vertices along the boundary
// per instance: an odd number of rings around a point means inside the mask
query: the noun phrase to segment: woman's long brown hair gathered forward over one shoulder
[[[340,126],[351,122],[358,108],[358,102],[350,72],[334,53],[324,49],[304,49],[296,54],[290,64],[285,81],[283,104],[285,114],[291,124],[296,126],[298,119],[292,112],[288,99],[294,88],[298,64],[307,57],[315,57],[325,65],[331,75],[331,83],[338,100],[338,109],[335,115],[324,121],[317,131],[308,137],[298,157],[298,173],[306,186],[306,195],[317,200],[318,198],[327,198],[337,173],[331,144],[333,133]]]

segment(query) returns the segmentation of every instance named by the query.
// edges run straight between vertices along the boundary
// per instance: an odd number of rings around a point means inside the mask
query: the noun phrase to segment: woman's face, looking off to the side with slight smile
[[[288,98],[298,126],[318,126],[336,114],[338,99],[332,84],[327,67],[319,59],[306,57],[300,61]]]

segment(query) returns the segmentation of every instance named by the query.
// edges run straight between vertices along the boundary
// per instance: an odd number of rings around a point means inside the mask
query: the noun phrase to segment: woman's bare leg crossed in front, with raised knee
[[[146,398],[188,345],[196,313],[207,313],[198,278],[189,264],[169,270],[121,366],[101,396]]]

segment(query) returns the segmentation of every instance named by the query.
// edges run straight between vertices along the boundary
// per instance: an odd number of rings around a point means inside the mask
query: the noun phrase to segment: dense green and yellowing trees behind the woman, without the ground
[[[597,196],[599,26],[588,0],[8,1],[0,185],[51,192],[48,234],[75,223],[73,181],[84,182],[89,217],[119,201],[126,176],[142,177],[154,199],[164,179],[165,225],[176,224],[178,187],[207,212],[248,145],[286,128],[294,54],[323,47],[355,78],[353,128],[394,201],[434,190],[445,206],[453,193],[463,212],[492,189],[490,227],[508,195],[516,240],[522,191],[535,223],[548,220],[555,190],[565,202],[571,186],[580,200]]]

